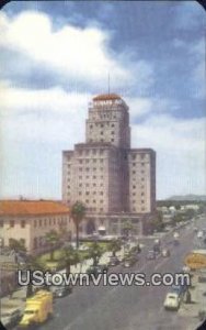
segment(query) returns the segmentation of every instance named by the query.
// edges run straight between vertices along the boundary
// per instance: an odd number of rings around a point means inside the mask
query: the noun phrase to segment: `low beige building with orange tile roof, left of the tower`
[[[45,235],[50,230],[73,235],[69,208],[54,201],[0,201],[0,239],[2,246],[10,240],[22,240],[28,253],[49,250]]]

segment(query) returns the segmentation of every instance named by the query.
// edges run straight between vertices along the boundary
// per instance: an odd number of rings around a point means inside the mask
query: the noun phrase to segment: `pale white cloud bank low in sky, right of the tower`
[[[133,146],[157,151],[158,198],[206,193],[206,120],[150,116],[131,130]]]

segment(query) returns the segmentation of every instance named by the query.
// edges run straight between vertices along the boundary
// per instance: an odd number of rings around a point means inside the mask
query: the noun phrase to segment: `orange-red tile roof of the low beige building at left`
[[[52,200],[0,200],[0,216],[41,216],[69,213],[69,208]]]

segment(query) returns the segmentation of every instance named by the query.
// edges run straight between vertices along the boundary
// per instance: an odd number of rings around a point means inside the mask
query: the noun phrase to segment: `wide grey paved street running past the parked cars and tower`
[[[147,261],[151,241],[145,240],[140,261],[129,271],[145,272],[147,277],[154,273],[180,272],[185,254],[194,248],[194,231],[180,231],[181,244],[170,244],[172,234],[163,239],[171,248],[169,258]],[[116,271],[125,272],[123,268]],[[128,271],[127,271],[128,272]],[[76,287],[72,295],[56,300],[55,317],[39,329],[50,330],[191,330],[190,320],[179,314],[165,311],[163,300],[168,287]]]

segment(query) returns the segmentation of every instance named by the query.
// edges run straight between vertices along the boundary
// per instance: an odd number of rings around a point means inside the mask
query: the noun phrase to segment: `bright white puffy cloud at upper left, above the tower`
[[[0,46],[24,53],[68,77],[99,81],[112,72],[119,84],[131,78],[108,54],[110,35],[98,28],[65,25],[53,31],[46,14],[26,11],[13,20],[1,14],[0,31]]]

